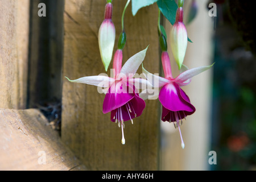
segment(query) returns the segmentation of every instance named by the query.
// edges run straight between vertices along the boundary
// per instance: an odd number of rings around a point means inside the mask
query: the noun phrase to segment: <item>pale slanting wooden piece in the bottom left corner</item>
[[[85,170],[36,109],[0,109],[0,170]]]

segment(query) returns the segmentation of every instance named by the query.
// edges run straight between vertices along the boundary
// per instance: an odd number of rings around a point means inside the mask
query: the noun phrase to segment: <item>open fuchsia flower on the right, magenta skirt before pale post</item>
[[[201,72],[207,71],[212,65],[207,67],[199,67],[193,69],[187,69],[184,65],[181,70],[185,70],[176,78],[172,77],[170,57],[166,51],[162,52],[162,65],[164,70],[164,78],[156,75],[152,75],[143,68],[143,73],[149,80],[158,80],[158,85],[151,84],[155,88],[161,88],[159,93],[159,101],[162,104],[162,121],[174,122],[175,128],[179,128],[181,147],[184,148],[185,144],[181,135],[180,125],[182,119],[187,115],[195,113],[196,109],[191,104],[189,97],[181,89],[181,86],[188,85],[191,82],[193,76],[198,75]],[[154,78],[154,79],[152,79]],[[176,122],[176,124],[175,124]]]

